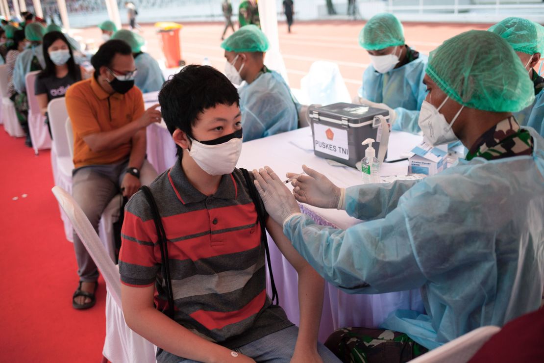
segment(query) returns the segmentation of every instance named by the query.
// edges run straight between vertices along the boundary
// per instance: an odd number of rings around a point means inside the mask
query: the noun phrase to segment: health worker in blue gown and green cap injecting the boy
[[[433,349],[539,308],[544,139],[512,116],[534,101],[533,89],[497,34],[471,30],[445,41],[425,72],[419,126],[433,145],[460,139],[468,154],[458,164],[419,181],[347,189],[304,167],[293,193],[270,168],[254,175],[270,216],[331,284],[370,294],[420,288],[426,315],[394,311],[380,327],[393,333],[381,336],[402,333]],[[364,222],[346,230],[317,225],[297,200]],[[349,360],[342,354],[359,338],[335,334],[327,347]]]

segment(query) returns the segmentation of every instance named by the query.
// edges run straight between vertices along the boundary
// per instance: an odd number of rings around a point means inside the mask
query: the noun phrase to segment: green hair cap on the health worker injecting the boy
[[[534,87],[520,57],[497,34],[470,30],[432,51],[427,75],[454,101],[491,112],[518,112]]]

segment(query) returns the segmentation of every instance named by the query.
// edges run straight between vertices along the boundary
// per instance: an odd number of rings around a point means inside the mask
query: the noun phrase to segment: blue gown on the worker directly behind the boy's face
[[[298,113],[280,73],[265,72],[238,93],[244,141],[296,130]]]

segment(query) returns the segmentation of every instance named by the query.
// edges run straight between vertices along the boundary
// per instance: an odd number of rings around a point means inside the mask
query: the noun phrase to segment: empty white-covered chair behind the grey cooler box
[[[307,104],[331,104],[351,101],[338,64],[318,60],[300,80],[300,93]]]

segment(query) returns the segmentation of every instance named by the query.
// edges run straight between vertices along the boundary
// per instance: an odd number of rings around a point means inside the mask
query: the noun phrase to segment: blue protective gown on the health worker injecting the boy
[[[382,328],[427,348],[538,309],[544,283],[544,139],[532,156],[460,159],[424,180],[346,190],[368,220],[338,230],[304,214],[283,232],[327,281],[348,293],[421,288],[428,315],[397,310]]]

